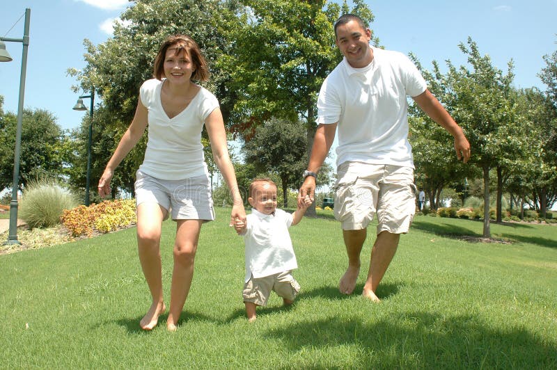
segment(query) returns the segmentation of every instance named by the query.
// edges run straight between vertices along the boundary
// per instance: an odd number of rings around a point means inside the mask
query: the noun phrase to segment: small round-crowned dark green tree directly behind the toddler
[[[308,157],[305,150],[306,130],[300,122],[272,119],[256,129],[256,133],[244,145],[246,163],[251,163],[258,173],[276,173],[281,180],[284,207],[288,207],[288,189],[297,189],[301,172],[306,168]],[[329,184],[330,166],[319,172],[319,184]]]

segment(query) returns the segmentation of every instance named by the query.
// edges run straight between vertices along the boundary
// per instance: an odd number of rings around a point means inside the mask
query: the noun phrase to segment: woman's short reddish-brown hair
[[[201,49],[199,45],[197,45],[197,42],[188,35],[171,35],[164,40],[155,58],[155,67],[153,68],[152,76],[158,80],[164,77],[164,58],[166,57],[168,48],[173,45],[178,46],[176,47],[174,55],[185,53],[186,51],[189,53],[189,57],[194,63],[195,68],[194,72],[191,74],[191,80],[207,81],[210,75],[207,61],[205,61],[205,57],[201,54]]]

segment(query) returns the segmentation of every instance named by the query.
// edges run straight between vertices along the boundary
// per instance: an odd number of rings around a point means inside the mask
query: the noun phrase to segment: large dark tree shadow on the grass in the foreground
[[[556,369],[554,344],[520,327],[494,330],[490,326],[471,315],[407,312],[377,322],[302,321],[268,330],[265,336],[278,339],[295,353],[355,346],[359,357],[354,357],[354,367]],[[335,361],[315,358],[313,367],[334,367]]]

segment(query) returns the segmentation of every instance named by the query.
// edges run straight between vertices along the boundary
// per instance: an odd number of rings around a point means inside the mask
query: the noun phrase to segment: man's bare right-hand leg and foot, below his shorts
[[[381,282],[385,271],[389,268],[389,264],[395,256],[396,249],[398,248],[398,241],[400,234],[391,234],[390,232],[380,232],[377,235],[373,249],[371,250],[370,271],[368,272],[368,279],[363,286],[362,296],[374,302],[381,302],[375,295],[375,289]]]

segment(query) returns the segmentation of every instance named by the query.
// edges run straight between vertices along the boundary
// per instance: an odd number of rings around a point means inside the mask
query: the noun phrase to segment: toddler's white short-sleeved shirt
[[[253,278],[282,273],[298,268],[296,255],[288,228],[292,225],[292,214],[276,209],[274,215],[262,214],[251,209],[246,217],[246,277]]]

